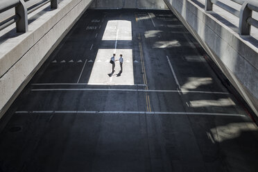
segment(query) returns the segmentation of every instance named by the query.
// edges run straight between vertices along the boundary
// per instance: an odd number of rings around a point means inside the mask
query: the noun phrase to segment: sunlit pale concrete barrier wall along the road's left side
[[[27,33],[15,33],[14,26],[0,32],[0,118],[90,3],[92,0],[63,0],[58,9],[47,10],[49,3],[29,24]]]

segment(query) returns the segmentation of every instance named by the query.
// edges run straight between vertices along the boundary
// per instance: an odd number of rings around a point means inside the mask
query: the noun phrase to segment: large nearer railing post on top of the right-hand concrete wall
[[[248,2],[243,3],[239,16],[239,34],[250,35],[251,26],[247,20],[252,17],[252,10],[248,8]]]

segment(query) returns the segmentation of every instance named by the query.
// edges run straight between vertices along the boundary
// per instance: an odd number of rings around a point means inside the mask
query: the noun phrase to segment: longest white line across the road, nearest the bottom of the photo
[[[16,114],[188,114],[203,116],[231,116],[246,117],[245,114],[227,114],[227,113],[210,113],[210,112],[144,112],[144,111],[16,111]]]

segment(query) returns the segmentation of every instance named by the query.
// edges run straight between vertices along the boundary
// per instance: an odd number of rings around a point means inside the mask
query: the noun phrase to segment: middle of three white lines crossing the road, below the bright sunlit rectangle
[[[146,86],[146,85],[138,85]],[[119,92],[178,92],[178,93],[199,93],[199,94],[229,94],[228,92],[200,92],[188,90],[158,90],[158,89],[112,89],[112,88],[51,88],[51,89],[31,89],[32,92],[45,91],[119,91]]]

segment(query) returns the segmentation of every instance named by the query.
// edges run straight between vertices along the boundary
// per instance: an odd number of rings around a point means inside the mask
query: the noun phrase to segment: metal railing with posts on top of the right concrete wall
[[[239,17],[239,34],[250,35],[251,26],[258,28],[258,21],[252,17],[252,11],[258,12],[258,3],[252,0],[230,0],[241,5],[241,10],[236,10],[218,0],[206,0],[205,11],[212,10],[213,4],[227,10],[232,15]]]

